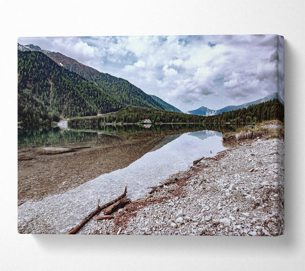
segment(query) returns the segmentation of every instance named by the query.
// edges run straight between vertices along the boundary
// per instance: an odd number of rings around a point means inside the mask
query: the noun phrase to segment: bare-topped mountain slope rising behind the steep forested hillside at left
[[[108,73],[100,72],[92,67],[79,63],[75,59],[63,55],[60,52],[43,50],[39,46],[33,44],[21,45],[19,43],[18,50],[43,52],[58,65],[78,73],[124,105],[144,106],[165,110],[161,103],[153,99],[153,97],[146,94],[138,87],[132,85],[127,80],[115,77]]]

